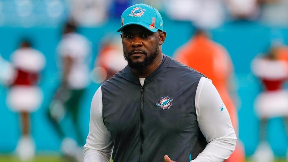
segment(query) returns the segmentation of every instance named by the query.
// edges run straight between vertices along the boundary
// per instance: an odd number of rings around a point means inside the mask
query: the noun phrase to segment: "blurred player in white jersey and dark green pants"
[[[63,37],[57,49],[61,57],[62,78],[60,86],[49,105],[48,116],[62,139],[61,150],[64,156],[82,159],[82,149],[77,146],[84,142],[78,123],[79,102],[89,84],[88,56],[91,52],[91,44],[87,38],[75,31],[76,25],[73,22],[65,24]],[[60,125],[67,113],[72,116],[76,141],[66,137]]]

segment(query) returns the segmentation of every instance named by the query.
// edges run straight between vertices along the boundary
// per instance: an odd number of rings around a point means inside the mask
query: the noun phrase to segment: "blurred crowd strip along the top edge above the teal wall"
[[[213,28],[227,20],[260,20],[287,25],[287,0],[1,0],[0,25],[57,26],[67,17],[81,26],[119,18],[132,4],[153,5],[171,19]]]

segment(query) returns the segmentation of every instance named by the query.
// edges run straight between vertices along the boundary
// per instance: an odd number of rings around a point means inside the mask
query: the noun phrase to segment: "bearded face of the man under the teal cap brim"
[[[139,25],[126,26],[121,34],[123,53],[128,66],[146,69],[153,63],[159,51],[159,32],[150,32]]]

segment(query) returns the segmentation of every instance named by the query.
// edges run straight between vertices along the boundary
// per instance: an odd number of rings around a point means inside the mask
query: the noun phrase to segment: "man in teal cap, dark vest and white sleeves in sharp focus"
[[[227,159],[236,136],[225,105],[211,80],[162,54],[160,13],[136,4],[121,23],[128,66],[93,97],[84,161]]]

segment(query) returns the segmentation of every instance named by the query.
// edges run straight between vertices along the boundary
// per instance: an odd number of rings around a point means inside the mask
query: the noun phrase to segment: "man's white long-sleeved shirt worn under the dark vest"
[[[141,79],[140,82],[144,80]],[[199,128],[208,144],[191,162],[224,161],[234,151],[237,138],[228,111],[210,79],[200,79],[195,106]],[[110,161],[113,142],[102,119],[101,87],[92,99],[89,134],[84,148],[84,162]]]

